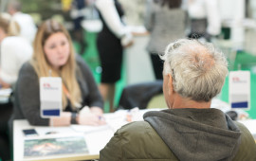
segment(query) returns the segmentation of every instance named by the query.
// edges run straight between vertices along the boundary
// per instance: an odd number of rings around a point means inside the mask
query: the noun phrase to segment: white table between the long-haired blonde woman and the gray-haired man
[[[215,102],[216,103],[216,102]],[[216,103],[218,104],[218,103]],[[120,110],[114,114],[105,114],[107,125],[100,127],[72,125],[70,127],[38,127],[31,126],[28,124],[26,119],[14,120],[13,122],[13,154],[14,161],[18,160],[90,160],[99,159],[100,151],[110,140],[113,134],[124,124],[128,123],[126,120],[127,115],[132,115],[132,120],[142,120],[142,116],[147,111],[158,111],[162,109],[150,109],[150,110],[134,110],[127,112],[126,110]],[[241,120],[241,123],[247,126],[247,129],[256,139],[256,119]],[[47,157],[36,157],[36,158],[24,158],[24,140],[26,136],[23,134],[24,129],[35,129],[39,136],[46,137],[47,132],[58,132],[54,137],[83,134],[85,142],[87,144],[89,153],[83,154],[62,154],[59,156],[47,156]]]

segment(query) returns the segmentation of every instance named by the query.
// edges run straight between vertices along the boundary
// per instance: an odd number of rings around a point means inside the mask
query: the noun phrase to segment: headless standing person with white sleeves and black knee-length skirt
[[[123,9],[118,0],[96,0],[103,24],[97,47],[101,60],[101,95],[114,111],[115,83],[120,79],[123,48],[133,44],[129,27],[122,20]]]

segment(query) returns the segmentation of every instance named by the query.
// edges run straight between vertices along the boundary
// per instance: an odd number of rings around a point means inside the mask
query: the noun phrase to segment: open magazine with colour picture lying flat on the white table
[[[24,141],[24,157],[79,153],[86,154],[88,152],[83,136],[34,138],[26,139]]]

